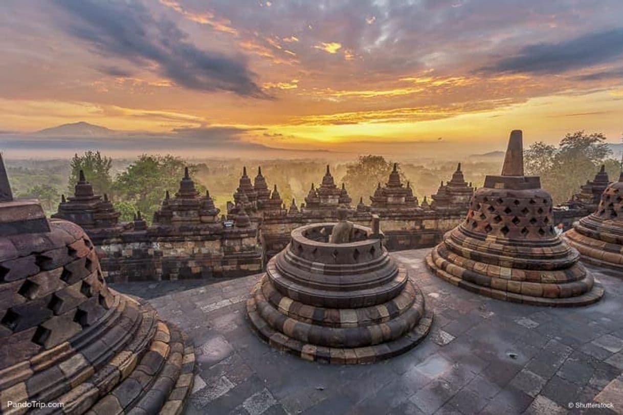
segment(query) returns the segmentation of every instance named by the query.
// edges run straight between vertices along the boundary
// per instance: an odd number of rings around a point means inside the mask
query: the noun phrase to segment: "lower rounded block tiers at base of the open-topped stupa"
[[[404,290],[407,295],[389,303],[340,309],[308,306],[283,297],[267,280],[263,277],[247,300],[247,315],[252,328],[273,348],[305,360],[353,365],[388,359],[418,345],[432,325],[433,313],[424,310],[424,296],[411,282]],[[389,321],[401,313],[407,318]],[[371,323],[374,317],[377,322]],[[294,336],[307,338],[308,342]],[[376,344],[352,348],[319,345],[340,336],[350,337],[345,339],[347,343],[370,339]],[[392,338],[395,340],[389,340]],[[386,342],[381,343],[383,341]]]

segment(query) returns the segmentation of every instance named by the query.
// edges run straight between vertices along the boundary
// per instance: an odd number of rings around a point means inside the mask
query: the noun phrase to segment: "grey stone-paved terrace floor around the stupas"
[[[244,315],[257,275],[115,287],[151,298],[194,340],[197,374],[186,414],[623,414],[622,276],[597,274],[606,295],[596,305],[541,308],[432,277],[426,253],[394,255],[434,309],[431,333],[374,365],[309,363],[260,341]],[[576,408],[597,403],[612,408]]]

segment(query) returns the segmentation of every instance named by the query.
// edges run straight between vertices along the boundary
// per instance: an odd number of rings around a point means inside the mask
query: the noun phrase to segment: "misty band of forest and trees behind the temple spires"
[[[390,160],[379,155],[361,155],[356,160],[329,163],[336,184],[345,183],[353,204],[369,196],[378,183],[388,179],[393,163],[404,182],[410,181],[414,194],[422,200],[434,194],[441,181],[447,181],[462,163],[465,180],[473,186],[482,186],[486,174],[497,174],[503,155],[488,157],[465,156],[465,160]],[[299,160],[241,160],[205,159],[186,161],[173,155],[148,155],[130,159],[113,159],[97,150],[76,154],[70,160],[6,160],[13,193],[18,197],[38,198],[48,214],[57,211],[61,194],[71,196],[83,169],[93,189],[108,194],[121,212],[121,220],[129,221],[137,211],[151,219],[168,190],[174,194],[183,176],[184,166],[189,167],[197,189],[209,190],[216,206],[226,212],[226,203],[238,186],[242,169],[247,167],[251,179],[262,166],[269,186],[277,184],[287,205],[292,199],[300,205],[312,183],[318,184],[325,173],[327,161]],[[601,133],[576,131],[564,136],[558,145],[536,142],[525,148],[526,174],[541,176],[543,188],[552,194],[554,203],[568,200],[581,184],[592,179],[602,164],[611,180],[618,179],[621,163],[614,159],[606,137]]]

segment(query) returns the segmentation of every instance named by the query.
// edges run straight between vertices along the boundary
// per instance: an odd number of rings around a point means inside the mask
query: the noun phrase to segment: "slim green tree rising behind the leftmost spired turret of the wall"
[[[102,156],[99,151],[85,151],[84,155],[74,155],[70,161],[71,172],[69,175],[69,193],[74,193],[74,187],[78,183],[80,170],[84,171],[85,178],[93,186],[96,194],[110,194],[113,189],[113,180],[110,176],[112,158]]]

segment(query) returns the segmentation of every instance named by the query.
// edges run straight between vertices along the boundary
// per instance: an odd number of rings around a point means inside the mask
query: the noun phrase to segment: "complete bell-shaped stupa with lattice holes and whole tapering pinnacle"
[[[465,221],[427,257],[442,279],[489,297],[533,305],[594,303],[601,285],[553,229],[552,199],[523,173],[520,130],[511,132],[500,176],[487,176]]]

